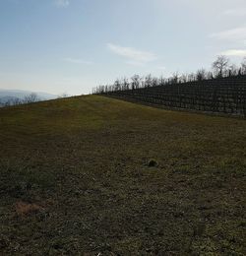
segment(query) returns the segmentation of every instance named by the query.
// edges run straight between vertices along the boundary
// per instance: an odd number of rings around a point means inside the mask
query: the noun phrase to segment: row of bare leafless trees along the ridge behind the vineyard
[[[175,72],[169,78],[156,78],[152,74],[145,77],[134,75],[130,79],[116,79],[112,85],[101,85],[92,89],[92,94],[107,94],[118,91],[136,90],[141,88],[150,88],[156,86],[166,86],[175,84],[185,84],[191,82],[200,82],[226,77],[237,77],[246,75],[246,57],[243,58],[240,66],[232,64],[230,60],[223,55],[218,56],[212,64],[212,70],[207,71],[202,68],[197,72],[189,74],[179,74]]]

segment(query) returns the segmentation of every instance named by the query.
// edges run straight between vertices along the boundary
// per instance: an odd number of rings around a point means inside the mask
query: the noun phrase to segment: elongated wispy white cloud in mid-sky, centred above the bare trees
[[[123,47],[113,43],[107,43],[107,47],[113,53],[127,59],[127,63],[130,65],[145,65],[156,59],[154,53],[149,51],[142,51],[132,47]]]

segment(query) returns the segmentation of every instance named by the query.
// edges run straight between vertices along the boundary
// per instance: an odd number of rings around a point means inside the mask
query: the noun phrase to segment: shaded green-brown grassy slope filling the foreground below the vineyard
[[[0,145],[0,254],[246,253],[245,120],[81,96],[0,109]]]

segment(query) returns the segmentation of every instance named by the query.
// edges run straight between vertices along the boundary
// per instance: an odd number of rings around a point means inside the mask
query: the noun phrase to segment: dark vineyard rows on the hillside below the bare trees
[[[114,96],[168,108],[246,116],[246,75],[188,83],[113,90]]]

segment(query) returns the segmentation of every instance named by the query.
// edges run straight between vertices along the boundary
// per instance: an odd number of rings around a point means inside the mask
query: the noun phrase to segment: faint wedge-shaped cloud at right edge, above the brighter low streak
[[[235,28],[223,32],[214,32],[210,37],[226,40],[246,40],[246,27]]]

